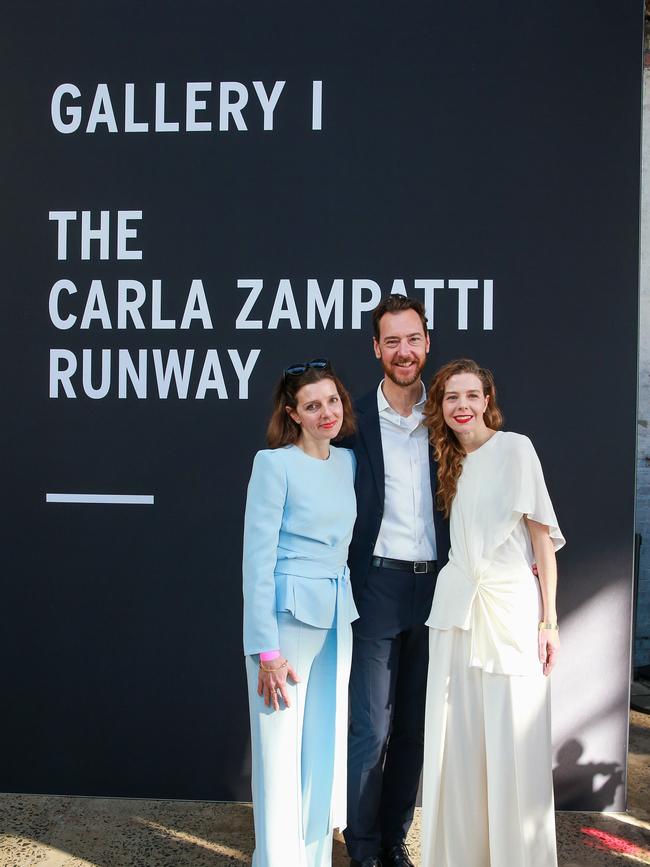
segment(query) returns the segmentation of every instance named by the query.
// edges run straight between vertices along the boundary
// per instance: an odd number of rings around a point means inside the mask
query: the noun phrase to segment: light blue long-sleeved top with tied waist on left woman
[[[293,445],[255,455],[244,519],[246,655],[280,647],[278,611],[324,629],[359,616],[346,565],[354,470],[353,453],[334,446],[326,461]]]

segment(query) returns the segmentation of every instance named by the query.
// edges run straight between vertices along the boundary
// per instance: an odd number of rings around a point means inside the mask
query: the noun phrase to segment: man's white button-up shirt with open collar
[[[384,453],[384,515],[373,554],[394,560],[435,560],[429,441],[422,424],[426,390],[404,418],[377,389]]]

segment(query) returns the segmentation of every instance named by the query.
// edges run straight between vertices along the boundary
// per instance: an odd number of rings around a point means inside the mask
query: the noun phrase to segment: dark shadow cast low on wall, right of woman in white
[[[553,768],[556,810],[602,811],[612,807],[624,769],[615,762],[580,762],[584,747],[579,740],[565,741]]]

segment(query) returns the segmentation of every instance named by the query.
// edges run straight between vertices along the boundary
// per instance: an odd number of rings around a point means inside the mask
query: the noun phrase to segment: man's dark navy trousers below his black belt
[[[348,852],[362,861],[406,837],[424,751],[435,575],[373,568],[354,625],[348,737]]]

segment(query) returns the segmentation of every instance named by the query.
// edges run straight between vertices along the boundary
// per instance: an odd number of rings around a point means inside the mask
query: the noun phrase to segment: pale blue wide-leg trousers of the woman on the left
[[[301,678],[291,707],[257,694],[259,659],[246,657],[255,852],[252,867],[331,867],[336,629],[278,613],[280,648]]]

